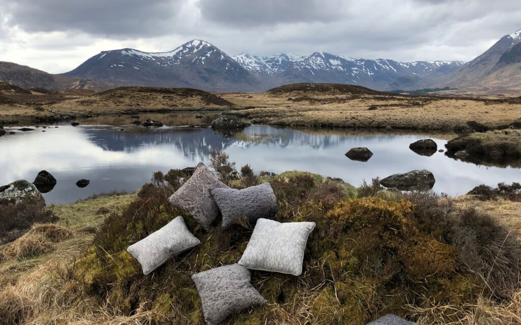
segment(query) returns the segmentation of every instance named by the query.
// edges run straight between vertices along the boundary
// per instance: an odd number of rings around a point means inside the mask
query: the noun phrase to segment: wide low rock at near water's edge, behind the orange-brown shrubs
[[[396,188],[401,191],[430,190],[436,179],[427,170],[412,171],[404,174],[394,174],[380,180],[380,184],[387,188]]]

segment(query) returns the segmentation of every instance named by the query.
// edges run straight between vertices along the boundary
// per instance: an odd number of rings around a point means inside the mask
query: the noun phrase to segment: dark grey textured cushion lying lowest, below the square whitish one
[[[250,270],[237,264],[194,274],[192,281],[201,297],[208,325],[217,325],[232,314],[265,302],[250,282]]]

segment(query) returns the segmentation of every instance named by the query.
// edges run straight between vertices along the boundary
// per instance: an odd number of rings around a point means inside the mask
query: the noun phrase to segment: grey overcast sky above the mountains
[[[0,0],[0,61],[60,73],[192,39],[229,55],[468,61],[519,29],[520,0]]]

